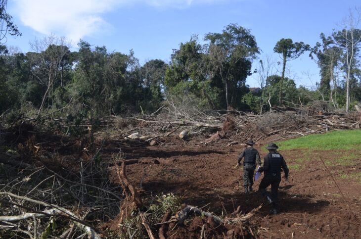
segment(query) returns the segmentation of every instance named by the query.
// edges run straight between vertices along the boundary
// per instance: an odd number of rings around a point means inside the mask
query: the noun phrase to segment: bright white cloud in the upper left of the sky
[[[77,42],[103,30],[109,24],[102,13],[122,5],[148,4],[155,7],[187,7],[195,3],[222,0],[14,0],[25,26],[45,35],[65,35]]]

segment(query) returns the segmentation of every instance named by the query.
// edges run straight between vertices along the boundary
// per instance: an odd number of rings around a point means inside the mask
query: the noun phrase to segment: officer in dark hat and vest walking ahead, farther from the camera
[[[256,163],[261,166],[261,157],[257,149],[253,147],[255,143],[253,140],[248,140],[246,142],[247,148],[244,149],[237,158],[237,167],[240,166],[241,159],[244,157],[243,161],[243,186],[244,191],[248,193],[252,190],[253,185],[253,174],[256,169]]]

